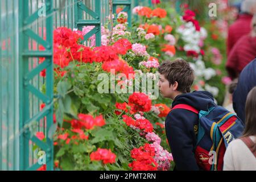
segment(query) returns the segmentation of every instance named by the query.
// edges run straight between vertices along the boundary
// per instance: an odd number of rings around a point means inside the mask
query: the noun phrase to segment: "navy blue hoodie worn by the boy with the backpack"
[[[187,104],[197,110],[216,106],[213,95],[206,91],[181,94],[172,102],[172,107],[177,104]],[[176,170],[200,169],[194,155],[198,122],[198,114],[185,109],[171,110],[166,117],[166,135]]]

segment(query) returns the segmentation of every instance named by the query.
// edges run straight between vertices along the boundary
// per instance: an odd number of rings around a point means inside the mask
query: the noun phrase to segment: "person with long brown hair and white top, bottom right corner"
[[[256,86],[246,100],[245,131],[229,143],[224,156],[224,171],[256,171]]]

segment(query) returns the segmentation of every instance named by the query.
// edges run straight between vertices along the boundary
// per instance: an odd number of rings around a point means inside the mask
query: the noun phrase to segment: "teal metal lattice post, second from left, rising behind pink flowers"
[[[75,0],[75,5],[75,27],[82,30],[84,26],[95,26],[84,36],[84,40],[88,40],[95,34],[96,46],[101,46],[101,0],[95,0],[95,11],[91,10],[81,0]],[[93,19],[84,19],[84,13],[92,16]]]

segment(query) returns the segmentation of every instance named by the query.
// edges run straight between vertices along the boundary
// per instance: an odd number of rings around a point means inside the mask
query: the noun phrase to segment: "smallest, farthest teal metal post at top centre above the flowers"
[[[117,6],[125,6],[125,11],[128,14],[128,26],[131,27],[131,0],[113,0],[113,14],[117,11]]]

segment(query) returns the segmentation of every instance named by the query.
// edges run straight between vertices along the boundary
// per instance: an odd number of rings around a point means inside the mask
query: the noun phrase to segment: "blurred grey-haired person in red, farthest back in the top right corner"
[[[244,0],[241,3],[241,14],[238,15],[238,19],[229,27],[228,40],[227,40],[227,55],[236,44],[238,39],[243,35],[249,34],[251,31],[250,23],[253,18],[253,14],[256,13],[256,1]]]

